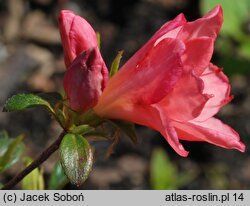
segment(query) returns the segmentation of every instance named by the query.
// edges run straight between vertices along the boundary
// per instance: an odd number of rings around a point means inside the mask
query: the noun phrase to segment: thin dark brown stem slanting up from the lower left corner
[[[13,188],[17,183],[19,183],[26,175],[28,175],[32,170],[41,165],[46,161],[60,146],[60,143],[66,134],[66,131],[62,131],[58,138],[47,148],[45,149],[30,165],[13,177],[9,182],[7,182],[2,190],[9,190]]]

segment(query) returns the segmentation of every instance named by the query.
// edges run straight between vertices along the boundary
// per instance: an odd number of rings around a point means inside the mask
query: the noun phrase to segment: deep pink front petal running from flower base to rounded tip
[[[112,113],[112,108],[121,101],[146,105],[160,101],[181,76],[183,51],[184,45],[179,40],[161,41],[136,67],[126,68],[111,78],[95,107],[96,112]]]

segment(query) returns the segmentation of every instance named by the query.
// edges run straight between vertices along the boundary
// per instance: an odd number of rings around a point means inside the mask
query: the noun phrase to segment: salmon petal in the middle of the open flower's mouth
[[[197,117],[209,96],[203,94],[203,81],[193,72],[183,73],[173,91],[157,105],[175,121],[188,121]]]

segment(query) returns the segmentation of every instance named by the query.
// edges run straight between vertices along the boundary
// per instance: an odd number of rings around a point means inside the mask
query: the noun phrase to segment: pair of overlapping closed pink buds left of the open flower
[[[94,107],[108,80],[108,70],[97,46],[95,31],[71,11],[59,14],[59,29],[67,71],[64,90],[71,109]]]

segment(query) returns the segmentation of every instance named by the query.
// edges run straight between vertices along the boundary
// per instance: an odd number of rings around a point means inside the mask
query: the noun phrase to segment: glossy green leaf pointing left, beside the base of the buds
[[[34,94],[17,94],[10,97],[6,101],[3,111],[12,112],[37,106],[46,107],[51,113],[54,114],[54,110],[50,106],[49,102]]]

